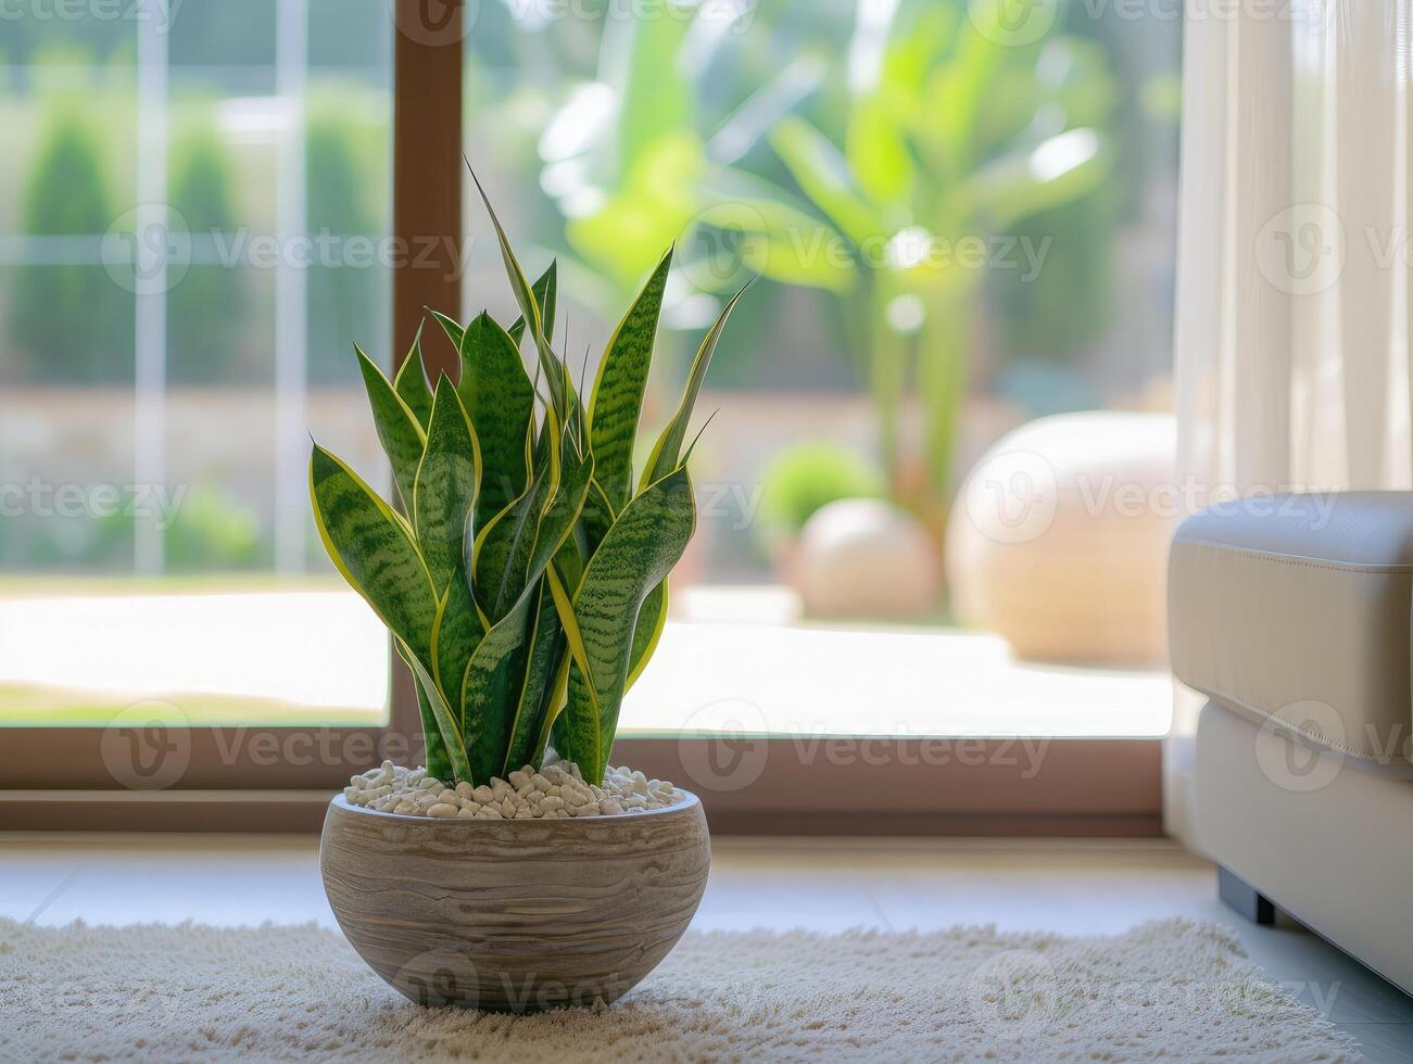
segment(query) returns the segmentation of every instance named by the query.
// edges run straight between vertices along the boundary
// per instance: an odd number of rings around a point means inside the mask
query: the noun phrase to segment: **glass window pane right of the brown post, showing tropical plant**
[[[589,379],[670,243],[650,414],[668,411],[723,301],[756,281],[699,404],[715,415],[695,452],[698,536],[626,729],[1166,731],[1173,514],[1115,513],[1113,489],[1153,490],[1170,461],[1181,27],[1176,8],[1133,14],[1010,0],[478,7],[468,154],[537,244],[527,268],[558,257],[564,342],[589,350]],[[465,309],[513,318],[473,198],[466,225]],[[1009,432],[1078,411],[1101,415],[1088,468],[1067,465],[1084,422],[1017,447],[1040,451],[1061,506],[1077,483],[1085,513],[1058,514],[1041,538],[1064,543],[1022,560],[1024,589],[1005,585],[983,571],[1012,561],[972,561],[950,528],[976,516],[958,493]],[[1003,524],[1031,472],[989,485]],[[985,507],[988,478],[975,489]],[[818,514],[859,497],[875,504]],[[1026,530],[1013,531],[1002,538]],[[1088,636],[1036,639],[1020,615]]]

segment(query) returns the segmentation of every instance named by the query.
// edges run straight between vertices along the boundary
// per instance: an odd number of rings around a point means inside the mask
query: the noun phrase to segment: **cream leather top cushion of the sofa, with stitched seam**
[[[1410,602],[1413,493],[1217,504],[1173,541],[1173,673],[1306,745],[1413,774]]]

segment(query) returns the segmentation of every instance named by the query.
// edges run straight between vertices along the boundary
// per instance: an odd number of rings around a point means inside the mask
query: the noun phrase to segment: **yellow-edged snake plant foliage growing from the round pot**
[[[666,623],[667,574],[695,528],[688,422],[735,300],[634,476],[671,250],[615,329],[585,406],[582,379],[551,346],[555,264],[531,285],[486,209],[520,319],[507,329],[485,312],[466,325],[435,314],[459,355],[455,383],[428,384],[420,339],[394,380],[357,350],[408,516],[315,445],[315,520],[413,671],[431,774],[504,777],[538,767],[552,739],[602,783],[623,694]]]

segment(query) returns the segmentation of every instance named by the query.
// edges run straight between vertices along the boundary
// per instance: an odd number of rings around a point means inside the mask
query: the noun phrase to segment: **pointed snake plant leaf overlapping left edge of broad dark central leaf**
[[[417,545],[438,592],[461,571],[462,544],[480,473],[476,431],[455,386],[444,373],[437,382],[427,451],[417,469],[417,486],[413,492]],[[456,675],[461,675],[459,670]]]

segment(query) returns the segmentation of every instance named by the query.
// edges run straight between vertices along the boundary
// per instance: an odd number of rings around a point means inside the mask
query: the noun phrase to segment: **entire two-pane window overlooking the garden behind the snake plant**
[[[391,181],[414,40],[455,54],[466,157],[527,267],[558,257],[586,377],[675,242],[654,430],[753,281],[625,735],[1166,729],[1171,11],[434,8],[6,16],[0,725],[387,721],[386,636],[324,557],[307,462],[314,434],[387,480],[352,343],[390,367],[411,341],[394,202],[437,202]],[[400,155],[448,138],[441,106],[396,112]],[[471,195],[462,219],[461,311],[509,324]]]

